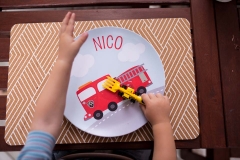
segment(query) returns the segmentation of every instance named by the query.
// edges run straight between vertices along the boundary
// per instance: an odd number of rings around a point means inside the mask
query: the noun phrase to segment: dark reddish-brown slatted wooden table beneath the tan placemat
[[[193,52],[195,62],[197,96],[199,106],[200,136],[194,140],[176,141],[177,148],[222,148],[231,146],[240,147],[239,125],[235,116],[239,114],[239,109],[235,107],[239,98],[239,51],[231,48],[227,50],[227,44],[218,47],[221,36],[226,35],[222,32],[229,25],[222,26],[221,18],[218,15],[221,12],[222,4],[211,0],[32,0],[24,4],[23,1],[0,1],[0,61],[7,62],[9,59],[10,29],[17,23],[36,23],[36,22],[60,22],[68,10],[54,10],[56,7],[86,7],[85,9],[76,9],[76,20],[113,20],[113,19],[133,19],[133,18],[186,18],[191,23]],[[235,4],[236,0],[231,2]],[[163,8],[148,8],[149,5],[161,5]],[[230,4],[229,4],[230,5]],[[88,9],[87,7],[98,9]],[[104,7],[108,6],[108,8]],[[120,8],[114,8],[121,6]],[[131,8],[126,8],[131,6]],[[175,7],[176,6],[176,7]],[[5,12],[5,9],[25,8],[49,8],[44,11],[12,11]],[[215,8],[214,8],[215,7]],[[112,8],[112,9],[109,9]],[[231,6],[228,10],[231,9]],[[235,14],[236,9],[234,10]],[[215,17],[216,16],[216,17]],[[226,17],[225,17],[226,18]],[[236,18],[236,16],[235,16]],[[238,26],[238,20],[234,21]],[[215,23],[216,22],[216,23]],[[216,26],[217,25],[217,26]],[[223,28],[222,28],[223,27]],[[239,28],[227,28],[227,30],[236,30],[238,37]],[[235,30],[234,30],[235,31]],[[229,32],[228,32],[229,33]],[[218,34],[218,35],[217,35]],[[235,35],[235,33],[234,33]],[[224,39],[224,38],[223,38]],[[240,43],[238,42],[240,45]],[[227,55],[231,55],[227,56]],[[234,55],[235,54],[235,55]],[[220,55],[220,57],[219,57]],[[227,66],[225,66],[227,65]],[[228,66],[230,65],[230,66]],[[232,69],[233,72],[229,72]],[[235,68],[234,68],[235,67]],[[226,71],[225,71],[226,70]],[[223,72],[224,71],[224,72]],[[228,77],[231,77],[231,83]],[[238,78],[238,79],[237,79]],[[7,89],[8,67],[0,66],[0,89]],[[233,83],[236,83],[235,86]],[[236,88],[234,88],[234,86]],[[232,88],[233,87],[233,88]],[[238,91],[237,91],[238,89]],[[224,92],[224,94],[223,94]],[[235,94],[231,96],[232,94]],[[231,101],[232,98],[236,98]],[[232,110],[232,108],[234,108]],[[239,107],[238,107],[239,108]],[[238,112],[236,112],[238,111]],[[227,114],[226,114],[227,113]],[[6,117],[6,96],[0,96],[0,120]],[[226,117],[226,119],[224,119]],[[239,118],[239,116],[238,116]],[[226,128],[226,129],[225,129]],[[22,146],[9,146],[4,141],[4,126],[0,127],[0,150],[13,151],[20,150]],[[238,131],[234,134],[233,131]],[[227,135],[226,135],[227,133]],[[238,142],[234,143],[234,138]],[[132,143],[98,143],[98,144],[66,144],[56,145],[55,149],[142,149],[152,148],[153,142],[132,142]]]

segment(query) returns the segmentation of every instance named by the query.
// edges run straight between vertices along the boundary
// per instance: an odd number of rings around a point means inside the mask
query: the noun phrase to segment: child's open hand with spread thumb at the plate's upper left
[[[75,13],[68,12],[62,21],[59,35],[58,60],[72,63],[79,48],[86,41],[88,34],[83,33],[76,41],[73,38]]]

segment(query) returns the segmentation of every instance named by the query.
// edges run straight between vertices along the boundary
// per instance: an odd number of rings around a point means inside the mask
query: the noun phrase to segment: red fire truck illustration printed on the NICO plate
[[[123,100],[121,93],[118,93],[120,96],[116,96],[116,93],[103,88],[103,83],[107,79],[107,76],[110,75],[104,75],[93,82],[90,81],[80,86],[76,92],[80,103],[86,111],[86,115],[84,116],[85,121],[92,117],[100,120],[103,117],[103,111],[106,109],[115,111],[118,108],[118,103]],[[128,69],[115,79],[122,86],[133,88],[139,95],[146,93],[146,87],[152,84],[143,64]]]

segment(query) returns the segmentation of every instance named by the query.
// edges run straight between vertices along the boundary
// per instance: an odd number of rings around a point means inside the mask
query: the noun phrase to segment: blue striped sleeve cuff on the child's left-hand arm
[[[21,150],[18,160],[51,160],[55,138],[49,133],[31,131],[25,146]]]

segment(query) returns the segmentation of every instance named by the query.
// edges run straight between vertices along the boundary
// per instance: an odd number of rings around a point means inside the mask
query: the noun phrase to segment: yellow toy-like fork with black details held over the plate
[[[103,83],[103,87],[113,93],[119,91],[118,94],[121,97],[123,97],[124,99],[129,99],[133,103],[137,101],[141,104],[144,104],[142,101],[142,97],[136,95],[134,89],[127,86],[121,86],[120,82],[112,77],[107,76],[107,80]]]

